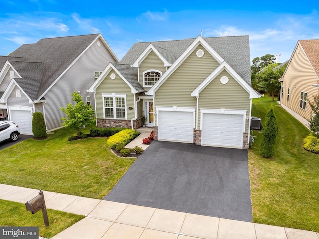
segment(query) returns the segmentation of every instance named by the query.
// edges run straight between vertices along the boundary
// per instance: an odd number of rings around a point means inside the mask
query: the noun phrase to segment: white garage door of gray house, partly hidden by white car
[[[11,120],[16,123],[21,134],[30,134],[32,133],[32,112],[29,110],[11,110]]]

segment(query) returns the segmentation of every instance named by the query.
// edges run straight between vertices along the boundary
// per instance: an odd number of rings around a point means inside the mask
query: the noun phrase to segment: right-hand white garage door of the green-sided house
[[[243,115],[203,114],[202,144],[242,148]]]

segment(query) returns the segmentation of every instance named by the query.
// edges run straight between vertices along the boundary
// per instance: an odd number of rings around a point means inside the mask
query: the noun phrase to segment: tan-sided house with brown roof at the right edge
[[[312,110],[307,100],[319,94],[319,40],[300,40],[283,74],[280,103],[308,126]]]

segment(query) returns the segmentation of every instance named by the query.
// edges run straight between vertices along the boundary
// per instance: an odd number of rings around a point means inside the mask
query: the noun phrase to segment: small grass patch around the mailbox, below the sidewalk
[[[39,234],[51,238],[72,224],[84,218],[82,215],[65,213],[47,209],[49,226],[44,226],[42,211],[36,214],[26,211],[25,204],[0,199],[0,225],[1,227],[39,227]]]

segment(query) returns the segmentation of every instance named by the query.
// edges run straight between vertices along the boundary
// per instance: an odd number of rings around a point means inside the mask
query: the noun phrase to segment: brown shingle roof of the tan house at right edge
[[[299,42],[319,77],[319,40],[300,40]]]

